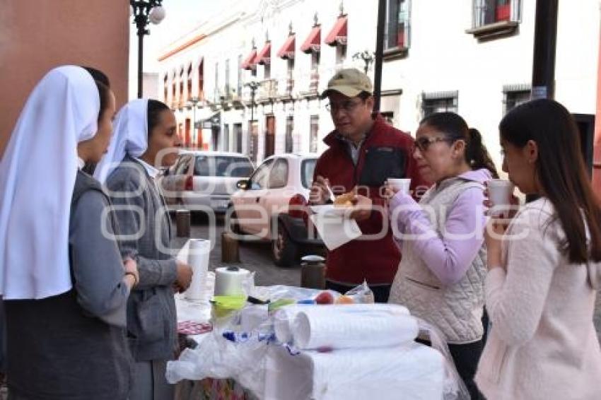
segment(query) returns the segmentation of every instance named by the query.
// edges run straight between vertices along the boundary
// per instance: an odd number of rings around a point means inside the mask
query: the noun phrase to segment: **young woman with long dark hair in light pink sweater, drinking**
[[[511,110],[499,133],[503,170],[540,197],[486,230],[492,329],[476,382],[489,400],[601,399],[601,207],[578,128],[559,102],[541,99]]]

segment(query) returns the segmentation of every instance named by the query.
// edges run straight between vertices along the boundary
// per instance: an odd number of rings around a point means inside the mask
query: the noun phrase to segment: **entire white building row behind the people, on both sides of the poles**
[[[388,0],[380,111],[412,133],[430,112],[458,112],[499,163],[498,122],[532,91],[535,3]],[[599,1],[559,7],[555,98],[590,124]],[[373,78],[377,9],[377,0],[240,2],[165,51],[158,98],[175,110],[188,146],[256,161],[319,153],[332,121],[318,93],[342,67]]]

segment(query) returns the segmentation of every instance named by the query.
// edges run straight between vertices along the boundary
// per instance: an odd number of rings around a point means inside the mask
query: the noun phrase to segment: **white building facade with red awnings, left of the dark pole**
[[[364,68],[352,56],[373,47],[376,14],[363,1],[244,2],[173,43],[160,59],[158,98],[188,146],[255,161],[320,152],[333,125],[318,94],[337,69]]]

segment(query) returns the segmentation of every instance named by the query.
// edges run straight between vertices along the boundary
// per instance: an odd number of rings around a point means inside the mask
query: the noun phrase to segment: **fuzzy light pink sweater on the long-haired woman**
[[[568,263],[553,214],[544,198],[524,206],[503,240],[504,268],[486,276],[492,329],[475,381],[488,400],[601,399],[601,264]]]

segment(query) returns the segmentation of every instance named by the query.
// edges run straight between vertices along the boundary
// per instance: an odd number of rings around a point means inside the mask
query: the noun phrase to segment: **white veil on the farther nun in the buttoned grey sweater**
[[[105,183],[125,155],[139,158],[148,148],[148,100],[136,99],[124,105],[115,117],[114,134],[108,151],[96,165],[94,177]]]

